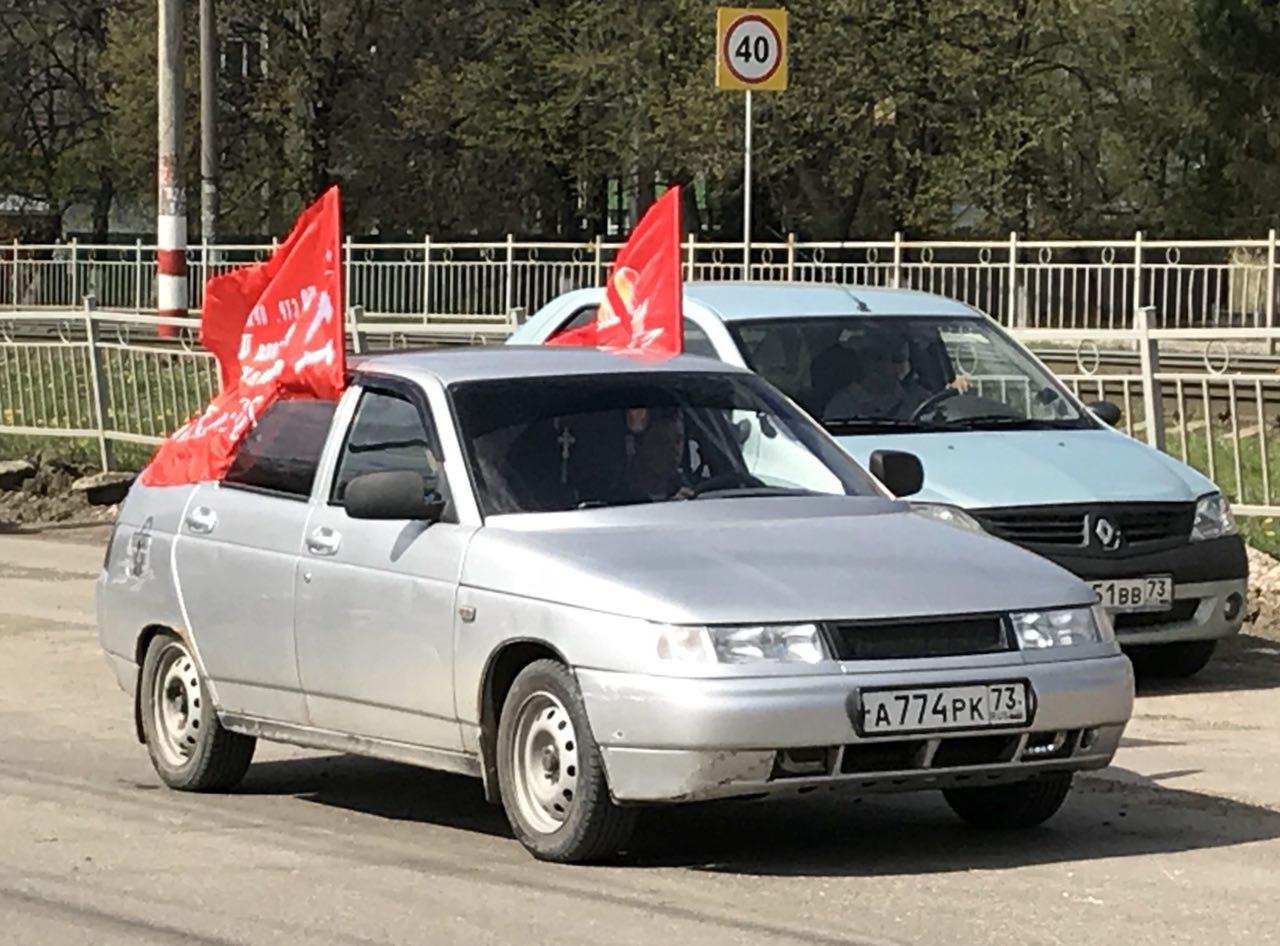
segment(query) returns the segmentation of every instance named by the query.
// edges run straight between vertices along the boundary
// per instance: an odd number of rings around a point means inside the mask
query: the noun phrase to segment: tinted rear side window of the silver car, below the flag
[[[337,407],[333,401],[276,401],[236,451],[223,483],[306,499]]]

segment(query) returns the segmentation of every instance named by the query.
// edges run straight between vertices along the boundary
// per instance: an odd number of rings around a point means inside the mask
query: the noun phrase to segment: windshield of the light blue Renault
[[[730,328],[746,364],[835,434],[1094,426],[987,319],[832,316]]]

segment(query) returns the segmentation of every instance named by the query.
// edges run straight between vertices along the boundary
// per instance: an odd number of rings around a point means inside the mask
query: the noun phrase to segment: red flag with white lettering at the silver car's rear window
[[[160,444],[142,471],[143,484],[221,479],[273,401],[342,394],[340,205],[338,188],[330,187],[269,260],[206,283],[200,341],[218,358],[221,393]]]

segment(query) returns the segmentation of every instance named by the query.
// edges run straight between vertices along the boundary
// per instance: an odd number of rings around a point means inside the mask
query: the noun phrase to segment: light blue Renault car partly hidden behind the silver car
[[[509,343],[584,324],[600,297],[556,298]],[[1114,430],[1115,406],[1083,405],[970,306],[905,289],[690,283],[685,349],[762,374],[864,466],[876,449],[916,454],[923,515],[1092,582],[1139,669],[1190,676],[1240,630],[1248,559],[1213,483]],[[778,448],[769,434],[744,424],[744,451],[764,462]]]

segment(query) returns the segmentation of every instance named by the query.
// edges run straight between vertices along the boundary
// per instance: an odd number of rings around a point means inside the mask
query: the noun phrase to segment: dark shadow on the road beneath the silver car
[[[1119,780],[1119,781],[1117,781]],[[480,782],[347,755],[264,762],[242,792],[511,837]],[[1082,776],[1062,812],[1023,832],[961,823],[938,792],[717,801],[645,809],[618,867],[735,874],[858,877],[1005,870],[1037,864],[1229,847],[1280,837],[1280,812],[1124,769]]]

